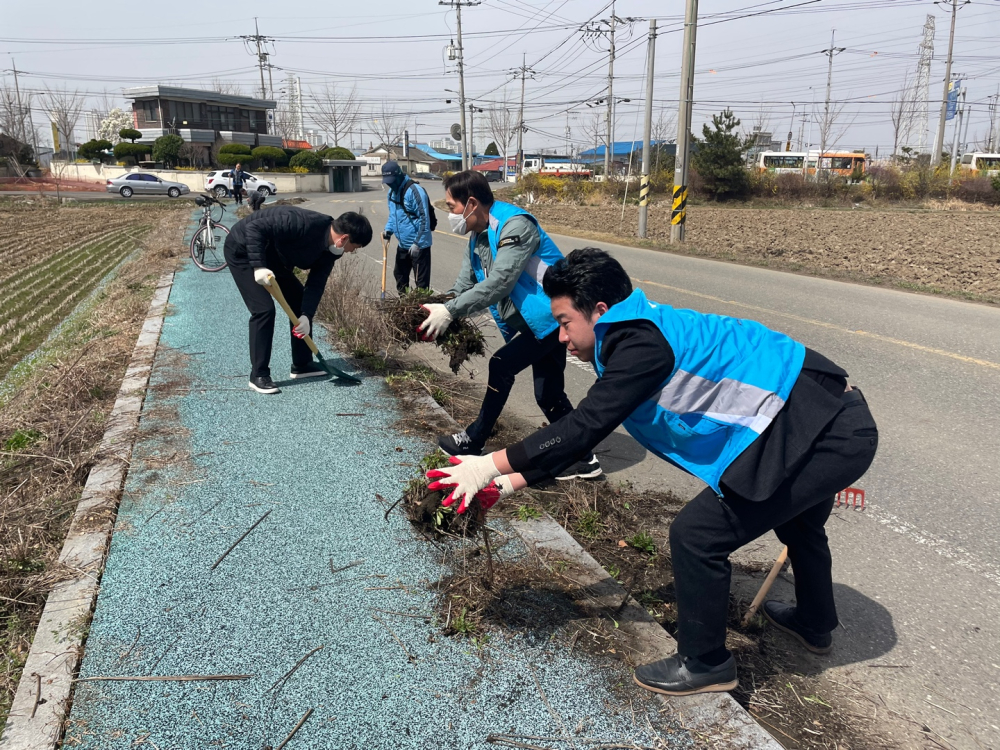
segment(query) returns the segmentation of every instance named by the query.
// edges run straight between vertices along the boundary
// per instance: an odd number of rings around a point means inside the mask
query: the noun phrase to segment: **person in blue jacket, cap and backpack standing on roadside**
[[[389,220],[382,239],[388,241],[395,235],[399,243],[392,269],[396,291],[406,292],[411,273],[416,277],[417,289],[430,289],[431,243],[437,221],[427,191],[394,161],[382,165],[382,182],[389,188]]]

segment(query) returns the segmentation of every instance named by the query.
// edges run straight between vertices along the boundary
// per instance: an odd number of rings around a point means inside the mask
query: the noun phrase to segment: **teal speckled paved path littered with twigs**
[[[478,652],[440,634],[428,585],[449,569],[375,499],[399,497],[403,464],[429,446],[391,429],[400,414],[379,378],[289,381],[283,324],[272,362],[283,392],[250,391],[246,323],[228,272],[185,264],[81,677],[253,677],[80,682],[67,746],[260,750],[312,709],[289,750],[495,747],[492,732],[661,747],[649,724],[662,725],[661,706],[627,671],[525,635]]]

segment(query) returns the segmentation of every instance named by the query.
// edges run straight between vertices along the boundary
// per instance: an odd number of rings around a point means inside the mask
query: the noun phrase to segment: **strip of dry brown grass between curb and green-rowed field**
[[[137,257],[0,406],[0,726],[45,598],[63,575],[59,551],[99,458],[105,422],[156,281],[184,250],[189,212],[150,216],[148,210],[143,220],[155,224],[155,231]]]

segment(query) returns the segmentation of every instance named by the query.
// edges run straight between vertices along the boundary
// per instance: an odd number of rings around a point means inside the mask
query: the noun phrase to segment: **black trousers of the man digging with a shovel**
[[[243,302],[250,311],[250,377],[271,376],[271,344],[274,341],[275,305],[270,292],[253,280],[253,268],[246,260],[235,259],[232,248],[226,243],[226,261],[229,271],[233,274]],[[302,314],[302,284],[288,270],[274,270],[274,277],[281,293],[285,295],[292,312]],[[284,316],[284,313],[282,313]],[[312,321],[310,321],[310,324]],[[312,352],[302,339],[291,335],[291,321],[288,324],[288,337],[292,342],[292,364],[296,367],[308,367],[312,363]]]

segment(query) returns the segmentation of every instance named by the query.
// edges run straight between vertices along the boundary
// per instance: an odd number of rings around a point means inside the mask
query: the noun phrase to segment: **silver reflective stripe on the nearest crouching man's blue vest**
[[[738,380],[723,378],[718,383],[678,370],[653,401],[675,414],[704,414],[727,424],[749,427],[761,433],[785,405],[771,391]]]

